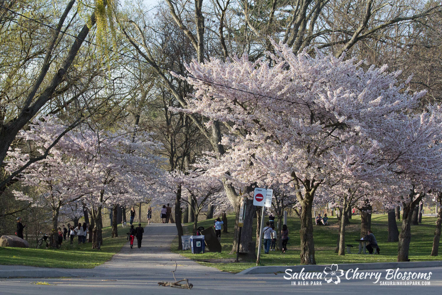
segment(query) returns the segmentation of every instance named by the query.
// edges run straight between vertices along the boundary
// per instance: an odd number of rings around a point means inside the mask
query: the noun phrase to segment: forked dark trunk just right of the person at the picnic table
[[[413,211],[416,206],[419,205],[420,200],[423,198],[423,194],[419,194],[419,196],[413,201],[414,197],[414,188],[411,190],[409,195],[409,200],[407,203],[402,202],[402,207],[404,214],[402,215],[402,226],[399,233],[399,243],[397,250],[397,261],[408,261],[408,252],[410,249],[410,241],[411,241],[411,223]]]

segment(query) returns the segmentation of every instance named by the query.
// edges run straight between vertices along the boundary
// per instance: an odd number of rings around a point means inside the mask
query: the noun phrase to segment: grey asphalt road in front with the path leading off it
[[[176,235],[174,224],[153,224],[146,226],[141,249],[130,249],[125,245],[120,253],[107,263],[94,269],[77,270],[86,277],[57,279],[1,279],[0,294],[358,294],[358,295],[416,295],[442,294],[442,268],[400,269],[399,272],[431,272],[430,280],[386,280],[385,271],[380,279],[351,278],[338,284],[327,283],[323,277],[318,280],[286,280],[285,273],[259,275],[233,275],[220,272],[195,263],[178,254],[170,253],[170,242]],[[136,244],[136,243],[134,243]],[[82,259],[79,257],[79,259]],[[160,281],[173,281],[171,271],[178,264],[175,276],[178,280],[189,279],[194,285],[191,290],[158,286]],[[366,272],[366,271],[361,271]],[[334,277],[335,278],[335,277]],[[45,281],[51,285],[36,285]],[[334,280],[336,281],[336,279]],[[295,282],[295,285],[292,285]],[[304,282],[304,283],[302,283]],[[312,285],[317,284],[317,285]],[[407,285],[383,285],[383,284]],[[300,285],[304,284],[304,285]],[[308,284],[308,285],[305,285]],[[412,285],[410,285],[412,284]],[[427,285],[424,285],[427,284]],[[429,284],[429,285],[428,285]],[[419,293],[417,293],[419,295]]]

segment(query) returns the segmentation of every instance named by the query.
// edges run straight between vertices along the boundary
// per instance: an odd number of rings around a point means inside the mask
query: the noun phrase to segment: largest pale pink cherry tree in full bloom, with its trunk
[[[275,178],[290,183],[301,207],[301,264],[315,264],[316,190],[343,179],[370,183],[412,173],[423,181],[437,175],[427,167],[440,163],[439,153],[428,157],[427,147],[434,146],[440,123],[426,121],[431,111],[412,112],[425,92],[405,88],[411,77],[401,83],[400,71],[364,70],[361,61],[344,56],[318,51],[310,57],[286,45],[274,47],[270,61],[251,62],[243,55],[191,62],[186,79],[195,93],[180,111],[210,118],[207,126],[228,128],[221,144],[229,149],[218,173],[249,184]],[[418,159],[421,165],[415,165]]]

